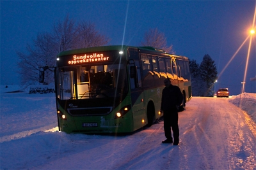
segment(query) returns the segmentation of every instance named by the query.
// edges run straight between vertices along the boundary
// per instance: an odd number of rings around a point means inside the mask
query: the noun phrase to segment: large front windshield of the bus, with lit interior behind
[[[124,63],[59,67],[56,74],[58,98],[120,97],[128,91],[126,75]]]

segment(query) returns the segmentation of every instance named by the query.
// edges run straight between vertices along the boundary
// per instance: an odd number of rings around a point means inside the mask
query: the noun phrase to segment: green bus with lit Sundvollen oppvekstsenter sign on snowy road
[[[184,110],[191,99],[187,57],[150,46],[97,46],[61,52],[55,67],[60,131],[133,132],[160,113],[163,80],[179,86]]]

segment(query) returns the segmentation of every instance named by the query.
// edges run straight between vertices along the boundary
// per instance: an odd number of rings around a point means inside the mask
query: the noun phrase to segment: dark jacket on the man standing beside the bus
[[[170,85],[165,87],[162,92],[161,110],[171,110],[180,106],[183,101],[183,96],[180,92],[179,87]]]

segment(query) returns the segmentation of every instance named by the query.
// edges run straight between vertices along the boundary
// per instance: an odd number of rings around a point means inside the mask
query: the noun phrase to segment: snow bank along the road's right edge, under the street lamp
[[[250,115],[254,122],[256,122],[256,94],[243,93],[237,96],[231,96],[229,102],[235,104]]]

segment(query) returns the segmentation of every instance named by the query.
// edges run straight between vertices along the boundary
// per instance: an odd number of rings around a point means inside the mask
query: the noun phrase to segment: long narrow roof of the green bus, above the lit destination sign
[[[63,56],[63,55],[72,55],[74,53],[90,53],[90,52],[98,52],[98,51],[112,51],[112,50],[123,50],[126,51],[128,48],[135,48],[138,49],[139,52],[147,53],[150,52],[155,55],[162,55],[164,57],[175,57],[175,59],[182,59],[182,60],[188,60],[187,57],[170,54],[164,52],[164,50],[159,48],[154,48],[152,46],[125,46],[125,45],[110,45],[110,46],[94,46],[89,48],[79,48],[74,50],[67,50],[64,52],[60,52],[57,57]]]

